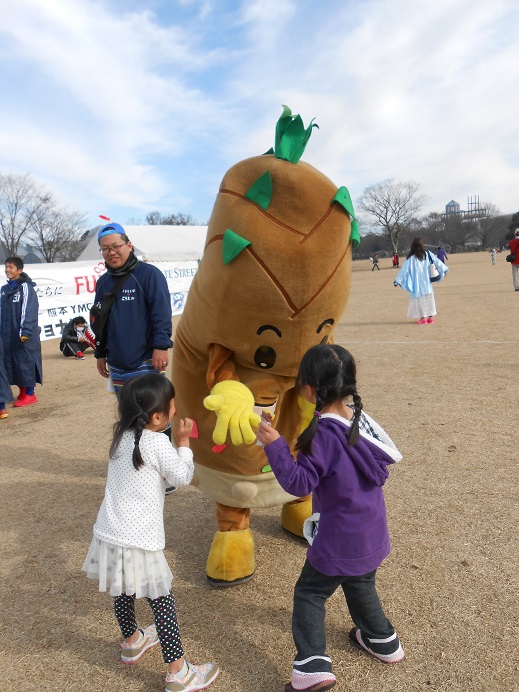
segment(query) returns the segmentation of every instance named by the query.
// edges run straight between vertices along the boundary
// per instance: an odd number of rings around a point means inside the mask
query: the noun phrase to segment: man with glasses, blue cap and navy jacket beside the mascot
[[[98,307],[113,302],[94,355],[99,374],[112,380],[118,396],[127,379],[166,370],[173,346],[171,299],[164,274],[137,259],[120,224],[103,226],[98,241],[107,271],[97,282],[94,302]]]

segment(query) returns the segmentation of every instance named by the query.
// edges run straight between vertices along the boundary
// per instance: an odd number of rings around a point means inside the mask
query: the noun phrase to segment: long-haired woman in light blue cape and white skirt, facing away
[[[393,284],[409,293],[407,316],[417,319],[416,324],[432,324],[436,315],[436,304],[430,276],[430,266],[434,265],[438,278],[442,279],[448,267],[434,255],[425,250],[421,238],[415,238],[402,269]]]

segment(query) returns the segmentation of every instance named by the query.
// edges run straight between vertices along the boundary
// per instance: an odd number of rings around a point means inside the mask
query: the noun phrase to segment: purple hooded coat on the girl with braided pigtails
[[[311,453],[299,452],[296,463],[282,437],[265,447],[284,490],[297,497],[313,493],[313,511],[321,516],[307,557],[328,576],[367,574],[390,551],[382,486],[400,453],[365,434],[349,446],[348,427],[344,419],[323,414]]]

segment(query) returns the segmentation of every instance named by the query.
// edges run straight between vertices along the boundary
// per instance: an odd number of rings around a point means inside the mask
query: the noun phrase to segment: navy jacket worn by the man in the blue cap
[[[95,302],[109,293],[117,277],[103,274],[96,285]],[[154,349],[167,350],[171,342],[171,298],[164,274],[151,264],[139,262],[117,294],[108,315],[106,358],[120,370],[136,370],[151,358]]]

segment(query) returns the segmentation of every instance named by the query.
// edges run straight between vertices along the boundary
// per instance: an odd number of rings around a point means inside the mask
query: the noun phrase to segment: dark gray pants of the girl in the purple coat
[[[294,668],[305,673],[331,673],[332,662],[326,656],[325,606],[339,586],[351,619],[365,636],[386,639],[395,633],[378,598],[376,572],[373,570],[359,577],[329,577],[305,561],[294,589],[292,636],[297,649]],[[309,658],[312,660],[307,661]]]

